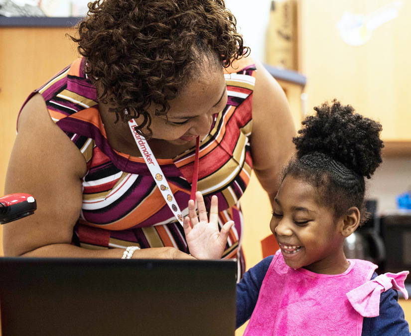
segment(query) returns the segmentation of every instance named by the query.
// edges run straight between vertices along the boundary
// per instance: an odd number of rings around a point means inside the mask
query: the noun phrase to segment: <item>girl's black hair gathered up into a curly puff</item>
[[[364,177],[369,179],[382,162],[382,126],[336,100],[314,110],[293,138],[297,153],[283,178],[291,174],[317,188],[319,202],[334,209],[335,218],[357,207],[364,223]]]

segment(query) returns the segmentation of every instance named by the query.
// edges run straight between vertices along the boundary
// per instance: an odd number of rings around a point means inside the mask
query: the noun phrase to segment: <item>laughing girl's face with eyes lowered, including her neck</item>
[[[343,218],[318,204],[318,190],[287,175],[274,200],[270,228],[286,264],[315,273],[340,274],[348,267],[343,252]]]

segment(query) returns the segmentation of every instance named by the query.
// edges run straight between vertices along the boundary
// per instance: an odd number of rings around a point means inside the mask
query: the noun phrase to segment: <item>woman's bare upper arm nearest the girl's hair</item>
[[[253,166],[273,205],[281,169],[294,154],[292,137],[295,127],[283,90],[262,64],[255,64],[251,134]]]

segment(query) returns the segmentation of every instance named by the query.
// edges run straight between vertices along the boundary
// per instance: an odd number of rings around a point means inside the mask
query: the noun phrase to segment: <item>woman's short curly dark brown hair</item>
[[[150,105],[166,115],[168,101],[205,66],[228,67],[249,53],[224,0],[97,0],[79,22],[85,73],[121,118],[143,116],[150,137]],[[149,134],[143,134],[147,127]]]

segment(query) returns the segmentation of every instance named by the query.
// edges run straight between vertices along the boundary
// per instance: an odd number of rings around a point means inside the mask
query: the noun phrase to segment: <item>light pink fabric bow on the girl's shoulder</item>
[[[400,273],[385,273],[365,284],[349,291],[346,295],[353,308],[364,317],[376,317],[380,315],[381,293],[394,288],[403,293],[408,299],[408,292],[405,289],[404,281],[409,271]]]

